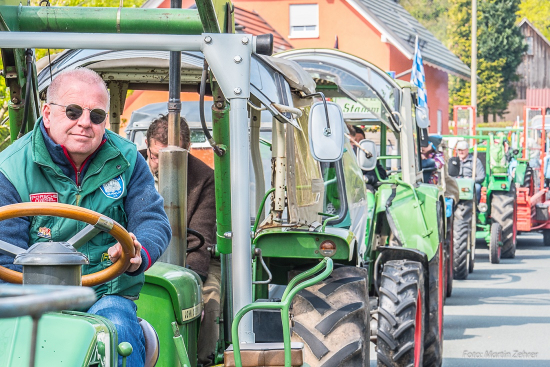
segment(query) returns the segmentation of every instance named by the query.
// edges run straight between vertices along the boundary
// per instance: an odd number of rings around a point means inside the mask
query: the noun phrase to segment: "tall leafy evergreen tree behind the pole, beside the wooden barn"
[[[449,46],[471,65],[471,1],[449,0]],[[524,37],[516,26],[520,0],[484,0],[477,13],[477,111],[487,122],[489,114],[506,111],[515,97],[512,83],[525,51]],[[449,103],[470,105],[470,82],[449,78]]]

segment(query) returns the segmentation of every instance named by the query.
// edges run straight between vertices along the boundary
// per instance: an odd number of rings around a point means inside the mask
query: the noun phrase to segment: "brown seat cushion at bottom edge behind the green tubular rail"
[[[239,344],[243,367],[283,367],[284,343],[250,343]],[[304,364],[304,343],[290,343],[292,349],[292,366]],[[223,354],[226,367],[237,367],[233,355],[233,346],[229,346]]]

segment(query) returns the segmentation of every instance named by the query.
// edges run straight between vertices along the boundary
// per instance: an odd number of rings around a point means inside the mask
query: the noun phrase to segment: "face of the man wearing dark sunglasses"
[[[56,144],[63,145],[69,156],[80,163],[92,154],[101,144],[105,134],[106,120],[94,124],[90,120],[90,110],[100,108],[107,111],[108,94],[105,86],[90,85],[81,80],[67,78],[67,87],[56,97],[56,105],[46,103],[42,107],[44,126]],[[78,105],[83,108],[82,116],[71,120],[65,114],[65,107]]]

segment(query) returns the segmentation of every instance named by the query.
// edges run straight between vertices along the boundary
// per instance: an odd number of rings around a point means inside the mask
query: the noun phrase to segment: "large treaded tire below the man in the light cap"
[[[456,204],[453,222],[453,266],[454,278],[464,280],[468,277],[471,256],[468,249],[471,242],[473,200],[460,200]]]

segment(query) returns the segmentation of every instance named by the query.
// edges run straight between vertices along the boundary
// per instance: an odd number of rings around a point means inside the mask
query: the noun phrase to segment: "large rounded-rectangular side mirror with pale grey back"
[[[340,160],[344,154],[342,108],[334,102],[313,103],[309,114],[309,138],[311,155],[315,160],[319,162]]]

